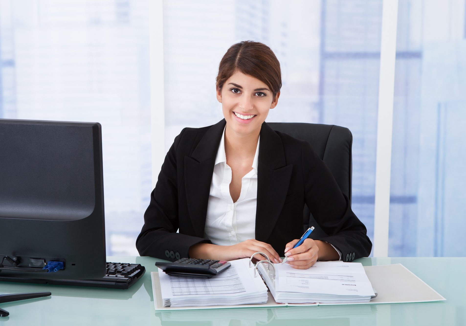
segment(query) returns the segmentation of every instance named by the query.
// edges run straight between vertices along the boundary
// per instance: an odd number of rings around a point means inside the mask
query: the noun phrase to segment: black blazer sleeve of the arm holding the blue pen
[[[306,204],[315,221],[329,235],[316,240],[340,250],[343,261],[369,256],[372,243],[366,227],[351,210],[348,197],[340,190],[328,166],[308,142],[302,146],[302,167]]]

